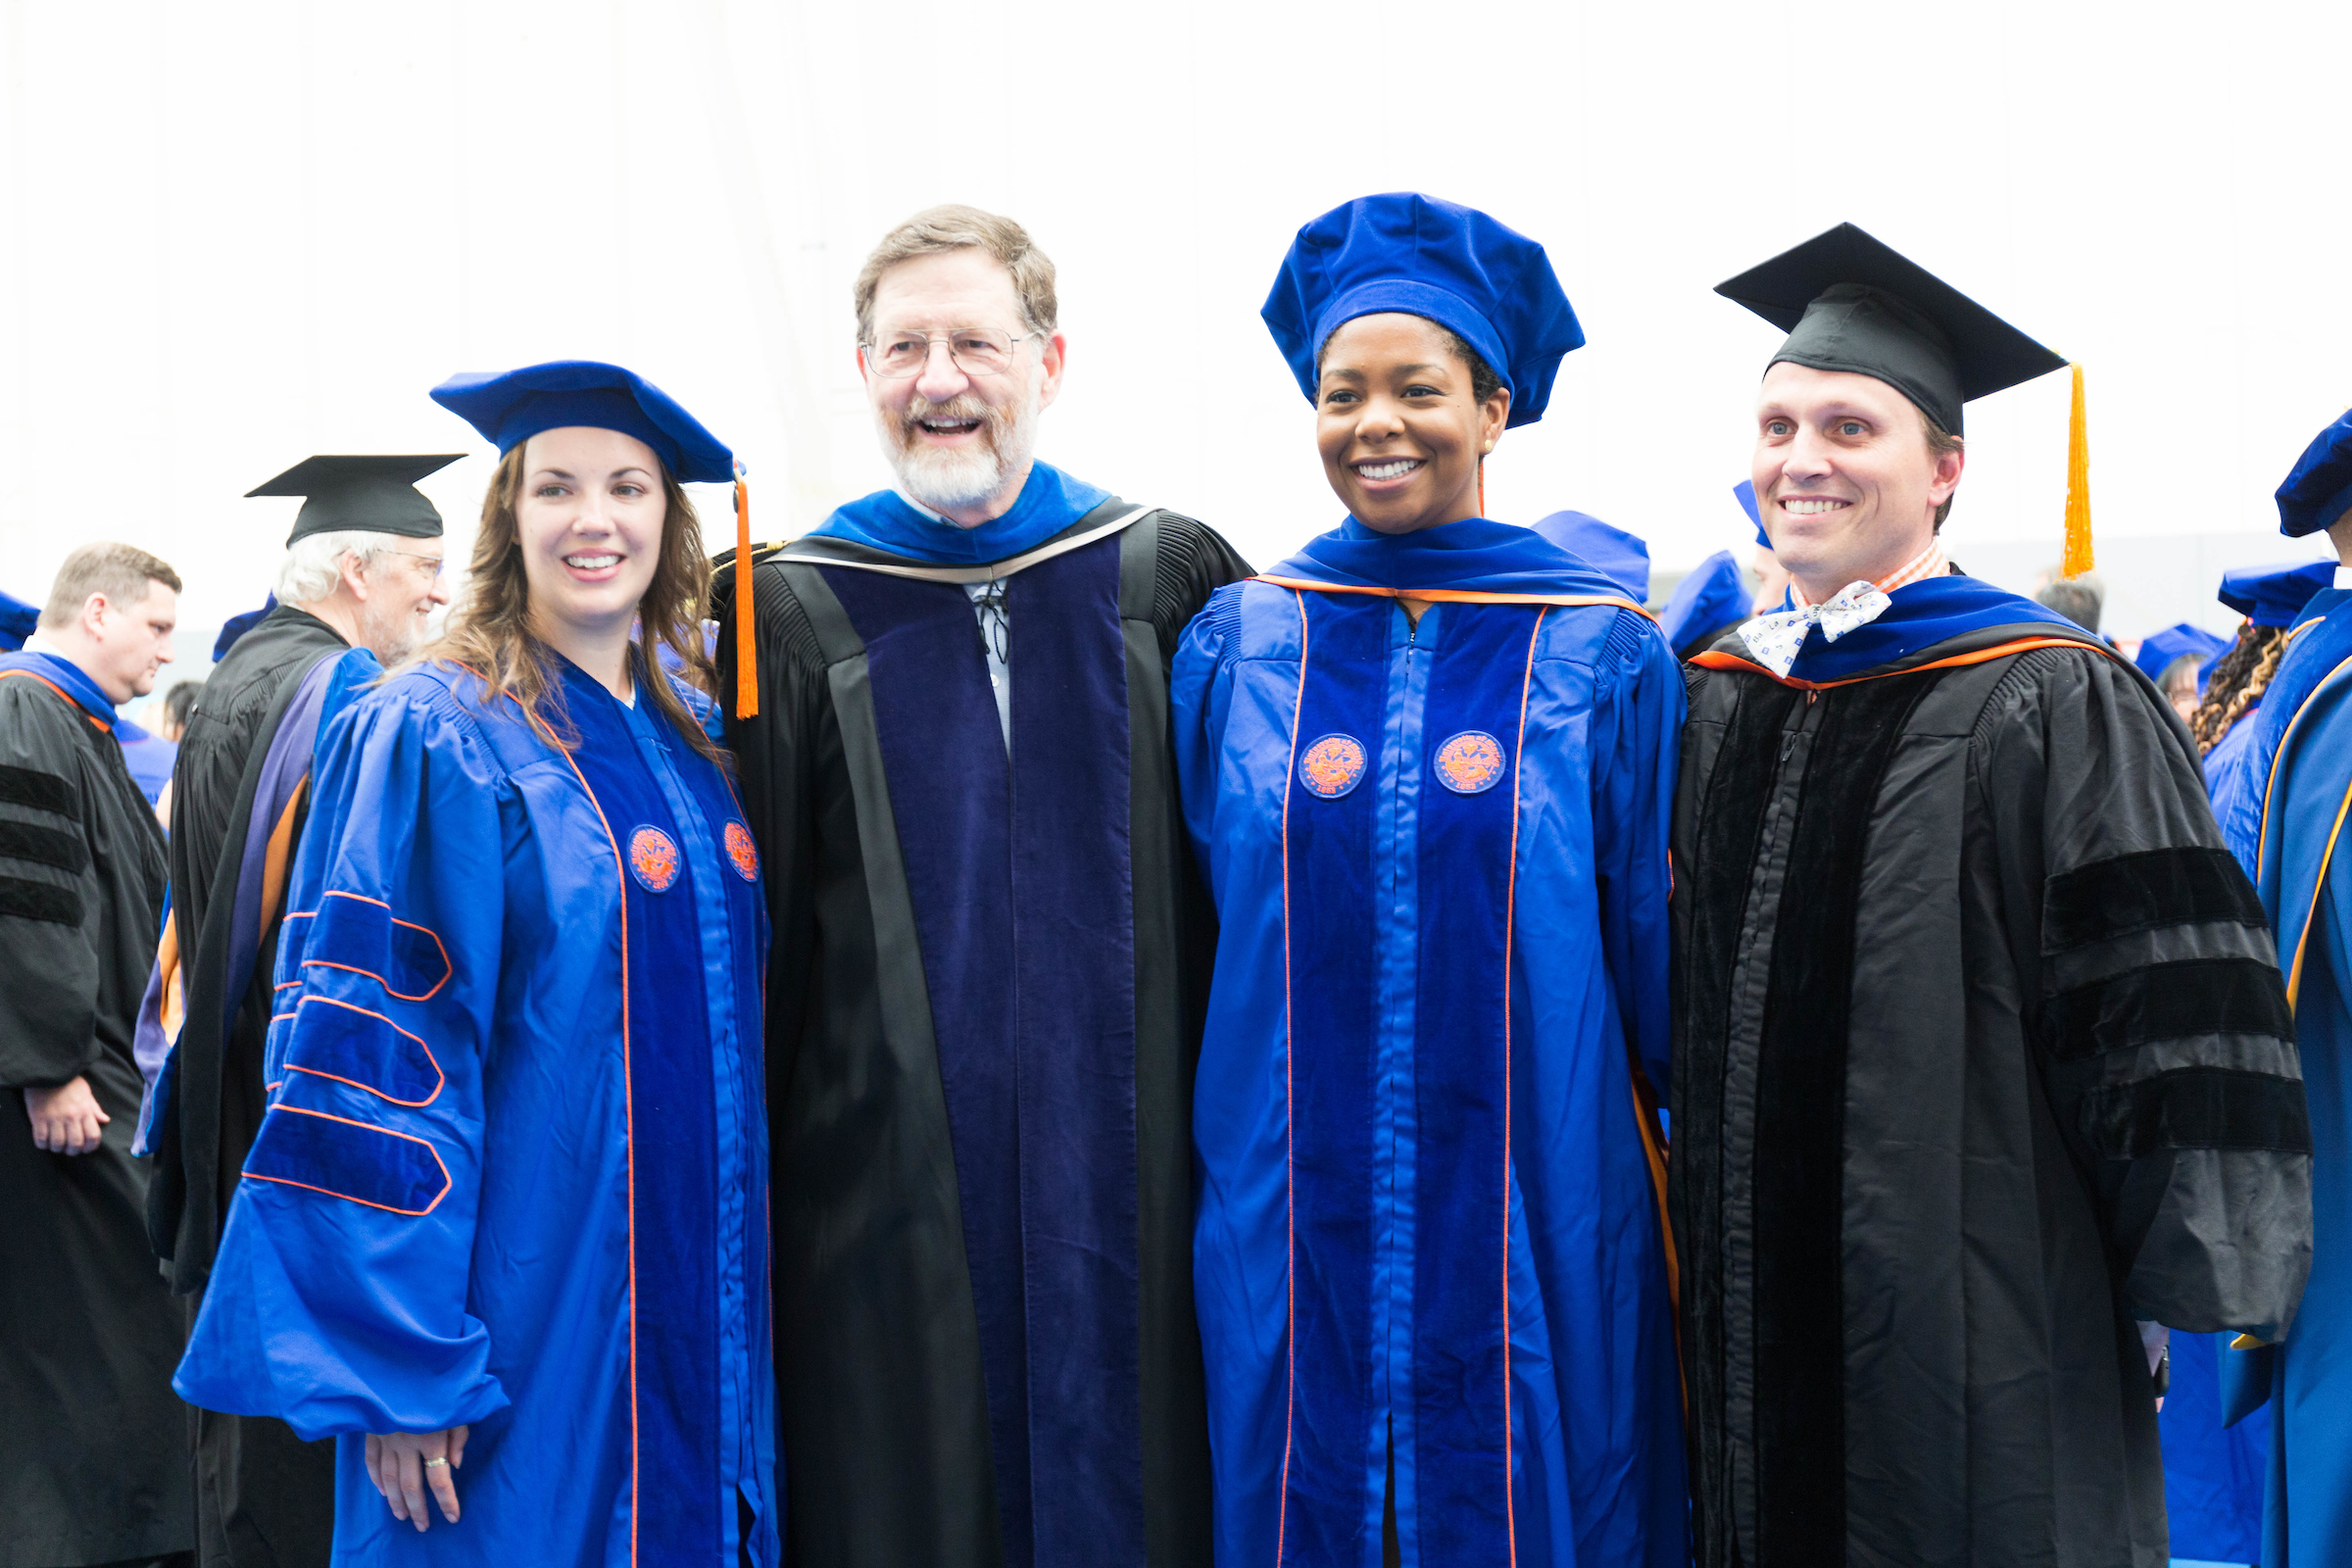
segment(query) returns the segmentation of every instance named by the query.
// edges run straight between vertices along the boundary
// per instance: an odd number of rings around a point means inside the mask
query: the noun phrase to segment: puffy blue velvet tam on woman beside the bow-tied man
[[[1510,425],[1543,418],[1562,355],[1585,346],[1541,244],[1409,190],[1357,197],[1301,228],[1258,315],[1315,402],[1322,346],[1355,317],[1388,310],[1470,343],[1510,388]]]

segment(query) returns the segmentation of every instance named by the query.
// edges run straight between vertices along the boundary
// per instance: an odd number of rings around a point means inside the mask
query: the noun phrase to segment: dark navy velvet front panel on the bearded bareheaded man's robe
[[[826,569],[866,642],[1014,1568],[1141,1561],[1120,541],[1014,576],[1011,757],[962,588]]]

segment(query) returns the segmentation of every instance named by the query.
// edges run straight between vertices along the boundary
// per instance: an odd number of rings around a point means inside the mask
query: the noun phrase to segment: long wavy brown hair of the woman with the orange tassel
[[[522,454],[517,442],[489,477],[482,496],[482,529],[473,536],[466,597],[449,611],[442,635],[416,651],[416,658],[440,658],[482,677],[489,696],[510,696],[524,719],[553,733],[564,748],[579,745],[579,731],[562,712],[562,686],[555,675],[557,654],[532,632],[532,583],[522,571],[522,531],[515,503],[522,498]],[[663,679],[659,646],[677,654],[684,677],[701,691],[715,691],[717,677],[703,654],[703,607],[710,602],[710,557],[703,555],[703,527],[687,491],[661,468],[661,498],[668,515],[661,522],[661,555],[654,581],[637,599],[637,644],[644,649],[647,679],[640,691],[687,743],[720,766],[727,755],[694,722],[694,712]]]

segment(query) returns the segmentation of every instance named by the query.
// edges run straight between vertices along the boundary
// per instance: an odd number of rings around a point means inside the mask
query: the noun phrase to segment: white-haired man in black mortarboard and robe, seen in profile
[[[336,698],[409,656],[449,602],[435,456],[313,456],[249,496],[306,496],[275,607],[198,696],[172,771],[172,910],[141,1013],[148,1234],[188,1321],[263,1112],[280,896],[308,809],[310,748]],[[183,999],[183,1006],[181,1006]],[[169,1023],[179,1023],[176,1044]],[[325,1563],[334,1443],[278,1420],[193,1410],[198,1561]]]

